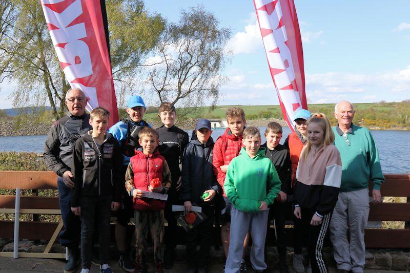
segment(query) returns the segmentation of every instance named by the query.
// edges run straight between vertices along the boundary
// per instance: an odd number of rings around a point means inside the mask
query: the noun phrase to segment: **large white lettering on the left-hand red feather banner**
[[[91,111],[98,107],[96,89],[81,83],[72,82],[77,78],[84,78],[93,74],[90,49],[81,38],[87,37],[85,23],[78,23],[68,27],[78,16],[83,14],[81,1],[76,0],[61,13],[53,11],[47,4],[58,4],[64,0],[41,0],[46,22],[53,25],[50,36],[58,57],[64,64],[63,71],[71,87],[81,88],[90,98],[87,109]]]

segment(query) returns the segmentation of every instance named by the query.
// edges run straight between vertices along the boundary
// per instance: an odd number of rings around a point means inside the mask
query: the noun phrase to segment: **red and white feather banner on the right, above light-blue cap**
[[[254,5],[283,117],[294,130],[295,113],[308,109],[295,4],[293,0],[254,0]]]

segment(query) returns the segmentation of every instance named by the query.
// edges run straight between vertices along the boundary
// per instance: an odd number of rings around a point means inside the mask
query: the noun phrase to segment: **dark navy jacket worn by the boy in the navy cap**
[[[220,191],[220,186],[216,180],[212,166],[212,150],[214,140],[210,137],[207,143],[201,143],[192,132],[191,141],[188,143],[183,153],[182,161],[182,187],[179,199],[191,201],[193,205],[202,206],[208,202],[203,202],[201,196],[204,191]],[[209,204],[214,204],[215,196]]]

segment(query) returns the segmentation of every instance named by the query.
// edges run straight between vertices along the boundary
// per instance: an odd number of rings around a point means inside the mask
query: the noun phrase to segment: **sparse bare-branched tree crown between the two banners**
[[[231,30],[221,28],[203,7],[182,10],[179,22],[168,24],[157,55],[148,64],[152,94],[159,102],[171,101],[179,108],[191,107],[190,111],[200,110],[197,106],[205,102],[215,106],[226,81],[219,73],[230,58],[224,49],[230,37]]]

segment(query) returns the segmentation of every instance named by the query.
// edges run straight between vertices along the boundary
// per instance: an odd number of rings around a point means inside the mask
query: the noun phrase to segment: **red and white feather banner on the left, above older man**
[[[87,110],[110,111],[118,121],[117,100],[100,0],[40,0],[61,68],[72,88],[83,90]]]

